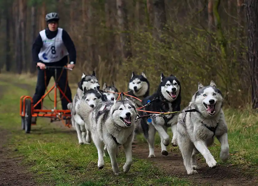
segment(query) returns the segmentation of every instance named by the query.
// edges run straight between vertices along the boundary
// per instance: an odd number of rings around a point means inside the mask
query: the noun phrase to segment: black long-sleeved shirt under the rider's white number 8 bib
[[[49,29],[46,29],[46,36],[48,39],[53,39],[54,37],[56,37],[57,32],[58,32],[58,29],[56,31],[50,31]],[[64,29],[63,29],[62,39],[63,39],[64,45],[69,53],[70,62],[73,61],[73,64],[76,64],[76,50],[75,50],[74,43],[73,43],[72,39],[70,38],[69,34]],[[42,38],[39,34],[32,45],[32,59],[36,63],[38,63],[38,62],[44,63],[43,61],[39,60],[39,56],[38,56],[39,51],[42,46],[43,46],[43,42],[42,42]],[[68,62],[68,58],[67,58],[67,56],[65,56],[61,60],[59,60],[57,62],[47,63],[47,65],[48,66],[64,66],[67,64],[67,62]],[[44,64],[46,64],[46,63],[44,63]]]

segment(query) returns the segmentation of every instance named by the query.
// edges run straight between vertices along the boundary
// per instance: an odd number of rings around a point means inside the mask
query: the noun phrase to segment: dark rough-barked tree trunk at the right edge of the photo
[[[246,0],[248,61],[251,79],[251,101],[258,108],[258,4],[256,0]]]

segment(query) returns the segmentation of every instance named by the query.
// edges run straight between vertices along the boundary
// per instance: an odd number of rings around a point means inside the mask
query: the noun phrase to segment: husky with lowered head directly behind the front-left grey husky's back
[[[88,103],[91,109],[95,108],[100,102],[107,101],[105,95],[101,94],[101,92],[97,90],[96,87],[90,90],[86,90],[86,88],[84,87],[82,99],[84,99]],[[91,142],[90,130],[88,128],[85,128],[84,121],[77,114],[78,108],[76,108],[76,105],[73,112],[75,113],[73,119],[75,121],[75,129],[77,132],[79,144],[89,144]]]

